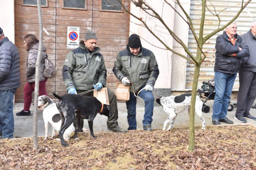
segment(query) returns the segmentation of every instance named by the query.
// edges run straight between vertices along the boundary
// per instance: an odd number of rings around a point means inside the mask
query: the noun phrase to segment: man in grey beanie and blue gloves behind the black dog
[[[96,47],[97,36],[88,30],[85,38],[80,41],[79,47],[69,52],[62,69],[62,76],[69,94],[79,94],[88,90],[100,90],[106,87],[106,67],[100,48]],[[83,94],[93,96],[93,91]],[[113,112],[108,117],[107,127],[109,132],[126,132],[118,126],[118,110],[115,94],[108,89],[110,110]],[[74,120],[76,132],[82,132],[83,119]]]

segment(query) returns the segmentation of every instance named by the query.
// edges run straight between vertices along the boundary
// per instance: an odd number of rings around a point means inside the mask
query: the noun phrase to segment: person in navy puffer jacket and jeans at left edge
[[[20,53],[0,27],[0,132],[2,137],[13,138],[13,97],[20,87]]]

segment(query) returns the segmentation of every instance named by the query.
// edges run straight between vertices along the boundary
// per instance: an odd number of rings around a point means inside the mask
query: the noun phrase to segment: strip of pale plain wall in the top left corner
[[[0,0],[0,27],[5,36],[14,42],[14,0]]]

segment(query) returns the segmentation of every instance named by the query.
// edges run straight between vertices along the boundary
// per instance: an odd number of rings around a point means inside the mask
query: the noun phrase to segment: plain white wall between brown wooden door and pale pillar
[[[163,0],[147,0],[147,2],[156,10],[159,14],[163,13],[163,20],[173,30],[174,28],[174,11],[170,10],[170,6],[165,5],[162,9]],[[171,2],[174,4],[173,2]],[[158,35],[163,41],[165,41],[169,47],[173,48],[173,38],[168,34],[166,29],[162,28],[162,25],[156,19],[152,19],[148,15],[143,14],[139,7],[136,7],[131,3],[131,12],[138,17],[147,18],[147,24],[151,27],[156,35]],[[151,50],[156,56],[159,66],[159,77],[156,81],[155,88],[171,88],[171,52],[168,50],[160,49],[165,48],[145,27],[138,26],[139,21],[130,17],[130,35],[133,33],[138,34],[142,41],[142,46]],[[159,48],[160,47],[160,48]]]

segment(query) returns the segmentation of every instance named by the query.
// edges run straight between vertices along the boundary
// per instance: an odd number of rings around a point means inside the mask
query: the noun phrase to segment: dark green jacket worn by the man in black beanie
[[[154,87],[159,75],[158,65],[153,52],[141,46],[139,54],[134,56],[128,45],[125,50],[117,54],[113,72],[119,81],[123,77],[131,80],[135,93],[145,85]],[[130,85],[130,92],[133,92],[132,85]]]

